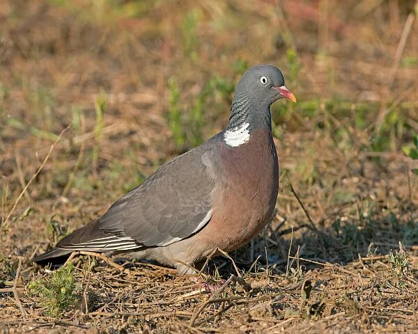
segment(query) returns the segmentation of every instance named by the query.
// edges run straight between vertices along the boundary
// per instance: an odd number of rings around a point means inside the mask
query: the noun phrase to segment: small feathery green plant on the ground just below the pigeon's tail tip
[[[42,299],[40,305],[46,309],[47,315],[58,317],[79,299],[75,294],[73,270],[74,267],[70,262],[66,267],[54,271],[51,278],[33,280],[29,283],[28,287],[32,294]]]

